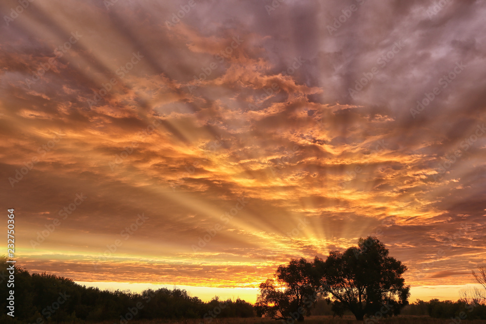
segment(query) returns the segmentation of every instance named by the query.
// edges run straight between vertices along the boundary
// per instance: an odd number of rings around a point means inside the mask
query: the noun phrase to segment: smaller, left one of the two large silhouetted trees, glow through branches
[[[292,259],[289,264],[280,265],[275,279],[260,284],[257,296],[257,315],[273,319],[304,320],[317,297],[320,274],[315,265],[305,258]]]

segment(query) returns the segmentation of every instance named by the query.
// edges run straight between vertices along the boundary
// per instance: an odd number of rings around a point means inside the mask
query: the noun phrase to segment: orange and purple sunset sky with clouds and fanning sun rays
[[[413,301],[484,265],[483,1],[0,12],[0,199],[28,271],[253,302],[279,264],[373,235]]]

